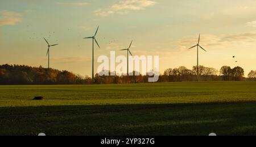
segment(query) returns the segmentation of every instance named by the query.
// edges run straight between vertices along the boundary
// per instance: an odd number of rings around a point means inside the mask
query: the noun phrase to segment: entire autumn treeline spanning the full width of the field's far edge
[[[146,83],[150,76],[138,74],[133,76],[100,76],[96,74],[94,83]],[[137,72],[138,73],[138,72]],[[159,75],[158,82],[185,82],[197,81],[197,68],[192,70],[184,66],[174,69],[166,69]],[[199,66],[199,81],[256,81],[256,71],[251,71],[245,78],[244,70],[237,66],[230,68],[222,66],[220,70]],[[0,65],[0,85],[65,85],[65,84],[92,84],[92,79],[82,77],[66,70],[33,68],[24,65]]]

